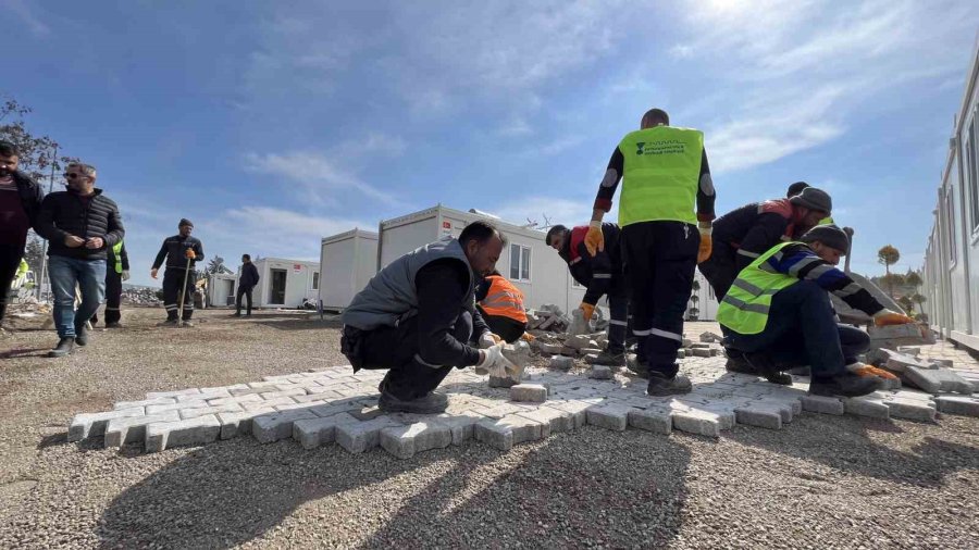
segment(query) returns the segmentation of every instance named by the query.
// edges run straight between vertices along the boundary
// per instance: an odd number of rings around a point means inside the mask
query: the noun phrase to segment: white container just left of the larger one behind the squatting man
[[[343,310],[377,272],[377,234],[355,228],[326,237],[320,247],[319,298],[325,310]]]

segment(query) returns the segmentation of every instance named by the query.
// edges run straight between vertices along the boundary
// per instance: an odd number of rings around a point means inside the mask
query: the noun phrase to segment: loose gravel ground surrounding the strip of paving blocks
[[[591,426],[508,453],[399,461],[251,438],[142,454],[65,442],[76,412],[147,391],[345,363],[335,323],[202,312],[194,329],[0,339],[0,548],[931,547],[979,540],[979,420],[805,414],[718,440]]]

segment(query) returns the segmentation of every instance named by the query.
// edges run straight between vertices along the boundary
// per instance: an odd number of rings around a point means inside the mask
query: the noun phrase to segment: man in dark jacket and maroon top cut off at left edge
[[[37,223],[44,192],[39,185],[17,171],[17,148],[0,141],[0,323],[7,310],[10,284],[24,258],[27,229]],[[0,328],[0,334],[3,334]]]

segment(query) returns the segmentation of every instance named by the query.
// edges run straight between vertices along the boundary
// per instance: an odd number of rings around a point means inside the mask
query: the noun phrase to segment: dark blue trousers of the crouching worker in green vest
[[[731,348],[765,352],[786,367],[809,365],[816,378],[843,374],[845,365],[870,348],[867,333],[837,323],[829,292],[811,280],[800,280],[772,297],[761,333],[724,333]]]

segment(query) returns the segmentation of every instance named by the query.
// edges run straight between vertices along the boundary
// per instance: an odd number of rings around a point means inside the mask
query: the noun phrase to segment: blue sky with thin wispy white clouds
[[[887,243],[916,268],[979,29],[965,0],[0,10],[0,95],[97,166],[139,285],[182,217],[232,268],[437,203],[586,224],[653,107],[704,132],[718,214],[805,180],[854,227],[855,271],[882,273]]]

